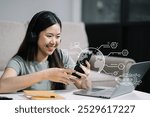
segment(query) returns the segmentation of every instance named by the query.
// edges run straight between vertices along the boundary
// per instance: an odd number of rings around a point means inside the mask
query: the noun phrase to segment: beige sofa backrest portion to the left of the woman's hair
[[[4,70],[8,60],[17,52],[25,30],[24,23],[0,21],[0,70]]]

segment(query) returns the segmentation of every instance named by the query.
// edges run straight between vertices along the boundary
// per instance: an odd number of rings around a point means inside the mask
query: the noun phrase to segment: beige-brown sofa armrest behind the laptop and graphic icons
[[[112,56],[105,56],[105,65],[102,73],[113,75],[113,76],[120,76],[128,72],[131,65],[135,63],[135,61],[131,58],[125,57],[112,57]],[[96,62],[95,56],[92,56],[90,60],[91,69],[94,71],[98,71],[98,68],[94,67],[94,63]]]

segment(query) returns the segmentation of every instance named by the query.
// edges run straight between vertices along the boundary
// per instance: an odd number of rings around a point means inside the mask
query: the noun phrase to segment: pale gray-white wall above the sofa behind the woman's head
[[[81,21],[82,0],[0,0],[0,20],[25,22],[38,11],[50,10],[62,21]]]

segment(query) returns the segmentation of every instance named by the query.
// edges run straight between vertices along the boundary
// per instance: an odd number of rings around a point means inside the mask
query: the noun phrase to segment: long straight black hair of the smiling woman
[[[56,23],[58,23],[62,29],[60,19],[50,11],[41,11],[35,14],[29,22],[25,38],[16,55],[21,56],[26,61],[33,61],[38,52],[38,39],[40,32]],[[53,52],[52,55],[49,55],[48,62],[50,68],[64,67],[57,49]],[[60,90],[65,89],[65,87],[66,86],[62,83],[51,82],[51,89]]]

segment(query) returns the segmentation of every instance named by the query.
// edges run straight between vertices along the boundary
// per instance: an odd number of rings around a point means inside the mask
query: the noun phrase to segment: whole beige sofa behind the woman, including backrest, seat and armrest
[[[5,66],[9,59],[17,52],[27,29],[27,23],[23,22],[11,22],[11,21],[0,21],[0,76],[3,73]],[[60,48],[64,51],[67,51],[68,54],[77,61],[78,55],[81,50],[88,47],[88,37],[85,31],[84,23],[72,23],[72,22],[63,22],[62,23],[62,42]],[[90,61],[91,69],[95,71],[93,64],[95,59]],[[105,64],[124,64],[125,68],[123,70],[118,70],[118,75],[122,75],[128,71],[130,66],[135,63],[131,58],[125,57],[105,57]],[[105,68],[105,71],[113,73],[116,71],[115,68]],[[114,77],[107,77],[108,74],[102,73],[103,76],[99,73],[94,72],[94,76],[97,78],[92,78],[93,85],[102,85],[102,86],[114,86],[116,84]],[[100,77],[100,78],[99,78]]]

